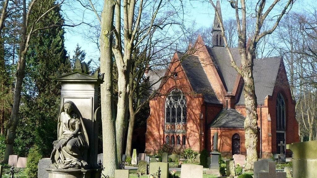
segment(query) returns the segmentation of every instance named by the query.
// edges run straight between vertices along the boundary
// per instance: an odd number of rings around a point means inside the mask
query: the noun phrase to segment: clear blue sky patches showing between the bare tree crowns
[[[103,0],[96,1],[96,9],[101,10]],[[99,5],[97,5],[99,3]],[[187,1],[186,2],[186,9],[188,13],[186,13],[185,19],[188,23],[190,21],[196,22],[196,28],[210,27],[213,19],[214,19],[214,9],[211,7],[209,2],[200,2],[200,1]],[[216,3],[216,0],[214,0]],[[221,0],[221,9],[222,9],[222,16],[223,19],[234,18],[234,10],[230,7],[230,4],[226,0]],[[293,6],[293,11],[303,11],[303,10],[310,10],[314,6],[314,0],[297,0]],[[303,8],[304,7],[304,8]],[[83,10],[79,3],[68,3],[62,6],[62,9],[69,9],[64,11],[64,18],[66,21],[73,21],[74,23],[84,21],[84,22],[94,22],[97,23],[96,17],[92,12],[88,10]],[[95,43],[89,40],[90,35],[94,35],[92,32],[92,28],[88,27],[87,25],[80,25],[74,28],[66,28],[65,34],[65,47],[70,57],[73,55],[73,51],[78,43],[81,46],[82,50],[85,50],[87,53],[86,60],[94,59],[98,60],[99,58],[99,50]]]

